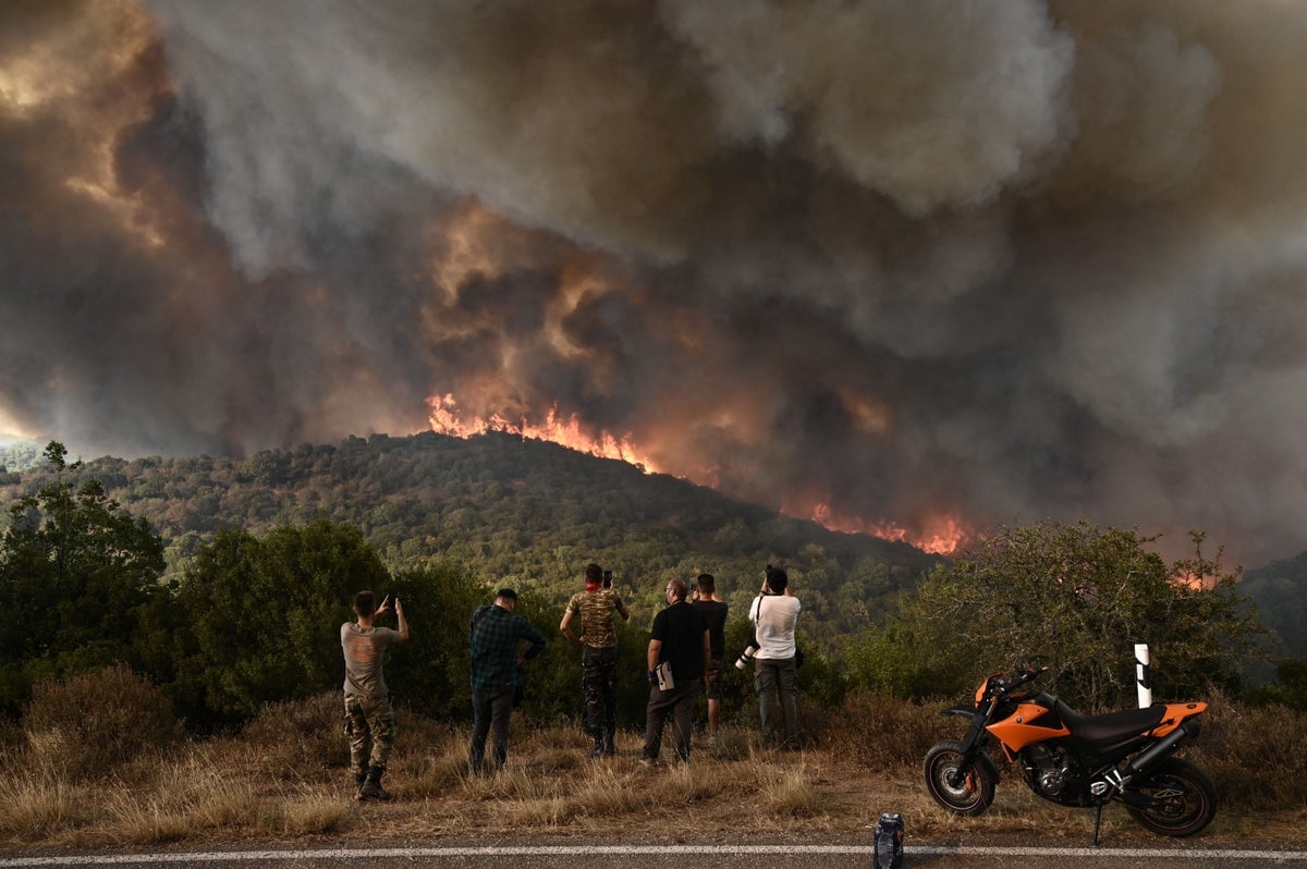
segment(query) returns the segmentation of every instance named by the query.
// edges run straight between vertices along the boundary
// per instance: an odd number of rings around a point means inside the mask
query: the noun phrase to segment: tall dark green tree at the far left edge
[[[74,486],[81,463],[50,442],[48,481],[9,508],[0,540],[0,708],[17,712],[31,685],[135,663],[139,614],[163,571],[163,544],[105,494]]]

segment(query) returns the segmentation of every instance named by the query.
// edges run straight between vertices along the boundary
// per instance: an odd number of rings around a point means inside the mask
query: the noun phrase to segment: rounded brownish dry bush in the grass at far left
[[[142,758],[157,761],[179,734],[163,691],[122,664],[38,682],[22,729],[29,761],[68,780],[107,779]]]

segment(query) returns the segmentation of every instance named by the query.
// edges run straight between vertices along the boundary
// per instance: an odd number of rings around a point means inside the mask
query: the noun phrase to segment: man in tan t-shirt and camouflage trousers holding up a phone
[[[358,592],[354,595],[358,621],[340,626],[340,646],[345,653],[345,737],[356,800],[391,798],[382,787],[382,776],[395,742],[395,712],[382,660],[387,648],[408,639],[408,621],[397,597],[393,608],[399,630],[378,627],[372,622],[391,612],[389,596],[378,608],[372,592]]]

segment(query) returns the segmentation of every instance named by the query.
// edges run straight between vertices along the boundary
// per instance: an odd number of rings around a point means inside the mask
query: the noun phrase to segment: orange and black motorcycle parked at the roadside
[[[999,767],[992,741],[1034,793],[1064,806],[1094,808],[1098,843],[1103,805],[1119,800],[1148,830],[1192,836],[1217,814],[1212,780],[1176,749],[1199,734],[1206,703],[1157,703],[1142,710],[1081,715],[1027,683],[1048,668],[996,673],[976,689],[974,707],[954,707],[971,727],[925,755],[925,788],[949,812],[976,815],[993,802]]]

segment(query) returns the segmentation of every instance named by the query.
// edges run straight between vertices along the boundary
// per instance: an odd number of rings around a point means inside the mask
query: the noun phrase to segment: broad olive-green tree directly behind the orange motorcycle
[[[1236,574],[1195,554],[1171,567],[1155,537],[1089,523],[1004,528],[932,571],[870,639],[901,649],[881,670],[899,694],[970,687],[988,672],[1047,665],[1060,697],[1104,710],[1134,702],[1134,643],[1153,653],[1154,697],[1234,690],[1263,634]],[[855,670],[859,666],[855,657]],[[861,668],[867,670],[867,663]]]

